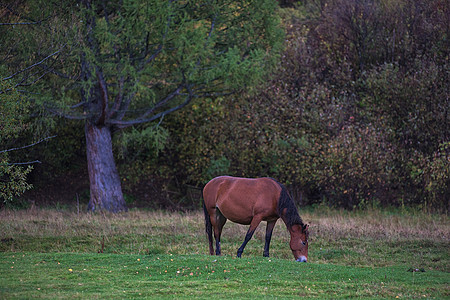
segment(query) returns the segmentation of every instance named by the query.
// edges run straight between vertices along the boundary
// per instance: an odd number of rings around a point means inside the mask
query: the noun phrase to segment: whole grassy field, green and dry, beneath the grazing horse
[[[247,227],[227,223],[224,255],[209,256],[200,212],[3,210],[0,298],[450,298],[448,216],[300,214],[311,224],[306,264],[281,221],[270,258],[260,226],[237,259]]]

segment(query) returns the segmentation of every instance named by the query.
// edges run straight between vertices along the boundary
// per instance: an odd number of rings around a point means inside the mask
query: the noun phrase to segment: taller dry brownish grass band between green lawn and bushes
[[[348,212],[325,208],[300,210],[309,223],[312,262],[391,266],[450,271],[450,221],[446,215],[369,210]],[[208,254],[204,216],[132,210],[92,214],[42,209],[0,212],[0,252],[77,252],[120,254]],[[264,222],[265,223],[265,222]],[[248,243],[244,257],[262,256],[265,224]],[[222,253],[234,257],[248,226],[227,222]],[[292,259],[289,234],[280,220],[271,256]]]

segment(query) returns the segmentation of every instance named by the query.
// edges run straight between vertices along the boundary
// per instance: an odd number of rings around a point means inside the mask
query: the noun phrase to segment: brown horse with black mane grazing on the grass
[[[264,256],[269,256],[269,245],[275,223],[281,218],[291,234],[289,243],[299,262],[308,260],[308,227],[298,215],[294,201],[286,187],[272,178],[238,178],[221,176],[212,179],[203,189],[206,234],[209,252],[214,254],[212,229],[216,239],[216,255],[220,255],[220,235],[227,219],[250,225],[245,240],[237,251],[241,257],[245,245],[252,238],[261,221],[267,221]]]

